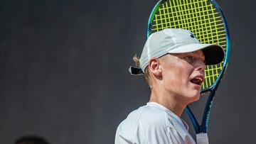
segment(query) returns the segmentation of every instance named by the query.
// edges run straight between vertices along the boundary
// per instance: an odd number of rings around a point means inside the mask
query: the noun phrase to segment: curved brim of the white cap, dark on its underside
[[[203,50],[206,57],[206,65],[217,65],[223,61],[224,50],[220,45],[193,43],[169,50],[168,53],[185,53]]]

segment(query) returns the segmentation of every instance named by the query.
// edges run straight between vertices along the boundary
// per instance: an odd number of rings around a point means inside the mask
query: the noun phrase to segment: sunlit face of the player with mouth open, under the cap
[[[203,51],[167,54],[161,59],[161,84],[166,92],[186,104],[197,101],[206,68]]]

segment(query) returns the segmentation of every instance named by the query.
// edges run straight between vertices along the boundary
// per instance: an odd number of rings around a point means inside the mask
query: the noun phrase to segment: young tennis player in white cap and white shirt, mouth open
[[[180,116],[200,97],[206,65],[223,60],[220,45],[201,44],[190,31],[168,28],[146,40],[132,74],[144,74],[151,89],[146,106],[119,124],[115,144],[195,143]]]

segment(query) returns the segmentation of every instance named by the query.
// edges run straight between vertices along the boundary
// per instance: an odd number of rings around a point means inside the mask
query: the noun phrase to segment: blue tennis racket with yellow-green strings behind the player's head
[[[218,65],[208,65],[201,89],[208,94],[201,125],[190,107],[186,107],[196,131],[198,143],[208,143],[208,120],[213,98],[228,65],[230,54],[230,37],[223,11],[214,0],[161,0],[149,17],[147,37],[164,28],[183,28],[191,31],[201,43],[215,43],[225,50],[225,58]]]

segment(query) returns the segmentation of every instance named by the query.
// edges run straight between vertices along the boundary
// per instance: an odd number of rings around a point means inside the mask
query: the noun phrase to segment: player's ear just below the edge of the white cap
[[[157,77],[161,76],[161,67],[160,67],[160,61],[156,59],[155,57],[152,57],[149,60],[149,71],[156,75]]]

